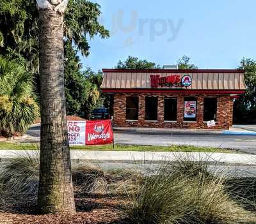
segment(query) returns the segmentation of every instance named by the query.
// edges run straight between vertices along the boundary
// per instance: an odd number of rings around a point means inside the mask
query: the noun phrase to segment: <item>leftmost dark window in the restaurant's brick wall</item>
[[[138,96],[128,96],[126,98],[126,119],[138,120],[139,98]]]

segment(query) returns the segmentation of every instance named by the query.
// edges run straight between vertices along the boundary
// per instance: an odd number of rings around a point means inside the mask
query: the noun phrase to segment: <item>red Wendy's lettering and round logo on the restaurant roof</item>
[[[150,75],[151,87],[157,88],[158,86],[175,86],[175,87],[189,87],[192,83],[192,78],[189,75],[168,75],[160,77],[160,75]]]

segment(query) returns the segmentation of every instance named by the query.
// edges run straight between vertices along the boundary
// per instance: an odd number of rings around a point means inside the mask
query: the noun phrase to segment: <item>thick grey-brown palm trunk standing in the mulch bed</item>
[[[63,16],[40,10],[41,142],[38,209],[75,213],[64,91]]]

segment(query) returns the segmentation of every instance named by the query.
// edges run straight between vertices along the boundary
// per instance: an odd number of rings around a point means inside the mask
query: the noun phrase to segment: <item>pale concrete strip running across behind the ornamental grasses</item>
[[[39,151],[0,150],[0,158],[10,159],[22,154],[38,158]],[[92,163],[162,163],[165,161],[205,161],[216,165],[256,165],[256,155],[237,153],[184,153],[132,151],[70,151],[72,161]]]

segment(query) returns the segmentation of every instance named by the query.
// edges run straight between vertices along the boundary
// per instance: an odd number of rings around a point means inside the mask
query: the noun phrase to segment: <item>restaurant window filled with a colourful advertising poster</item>
[[[196,98],[184,98],[184,121],[196,121]]]

